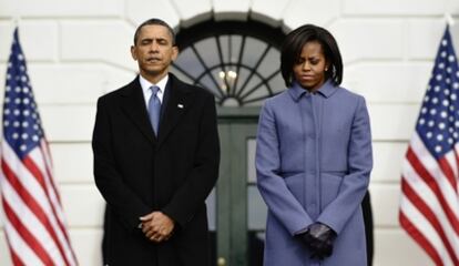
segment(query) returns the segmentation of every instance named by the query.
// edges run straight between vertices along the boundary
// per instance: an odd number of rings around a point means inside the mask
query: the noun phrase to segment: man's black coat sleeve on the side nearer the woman
[[[184,228],[196,211],[204,204],[215,185],[220,165],[220,141],[216,124],[215,100],[205,93],[200,121],[200,135],[193,168],[162,212]]]

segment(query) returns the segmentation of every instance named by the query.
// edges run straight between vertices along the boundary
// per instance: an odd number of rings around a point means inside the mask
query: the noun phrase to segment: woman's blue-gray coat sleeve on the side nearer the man
[[[292,235],[305,229],[313,221],[288,190],[280,170],[279,137],[276,117],[266,101],[262,109],[256,140],[256,176],[258,190],[268,209]]]

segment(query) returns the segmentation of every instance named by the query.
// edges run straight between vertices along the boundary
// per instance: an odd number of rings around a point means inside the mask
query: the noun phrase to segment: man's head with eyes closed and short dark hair
[[[167,28],[151,24],[142,27],[131,53],[139,63],[142,76],[155,83],[167,74],[169,65],[176,59],[178,50],[173,47]]]

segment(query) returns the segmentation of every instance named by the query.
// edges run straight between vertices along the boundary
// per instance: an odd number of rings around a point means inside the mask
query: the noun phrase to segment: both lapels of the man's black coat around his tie
[[[134,122],[142,134],[157,146],[164,142],[172,129],[180,121],[182,114],[191,106],[193,100],[192,95],[194,95],[194,93],[192,93],[193,91],[185,83],[181,82],[171,73],[166,92],[169,93],[169,96],[166,102],[163,103],[165,110],[162,111],[163,114],[157,136],[154,134],[150,123],[149,111],[145,106],[139,76],[136,76],[130,84],[128,84],[125,90],[121,92],[121,95],[124,98],[122,101],[122,109],[124,112]]]

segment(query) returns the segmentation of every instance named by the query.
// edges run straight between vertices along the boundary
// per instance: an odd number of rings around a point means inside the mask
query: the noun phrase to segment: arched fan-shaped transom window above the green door
[[[279,70],[284,33],[255,21],[208,21],[181,29],[172,72],[211,91],[221,106],[261,105],[285,89]]]

